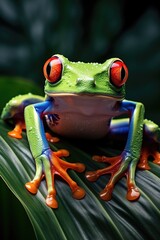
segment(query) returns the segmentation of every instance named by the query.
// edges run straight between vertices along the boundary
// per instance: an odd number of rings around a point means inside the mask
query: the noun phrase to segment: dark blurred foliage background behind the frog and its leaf
[[[43,94],[42,67],[55,53],[84,62],[120,57],[129,69],[126,98],[143,102],[146,117],[159,122],[157,1],[1,0],[0,110],[15,92],[21,94],[32,89],[33,93]],[[9,227],[16,239],[22,237],[21,233],[23,239],[28,236],[34,239],[21,205],[4,184],[0,186],[0,202],[5,206],[0,209],[2,228]],[[9,239],[5,234],[4,239]]]

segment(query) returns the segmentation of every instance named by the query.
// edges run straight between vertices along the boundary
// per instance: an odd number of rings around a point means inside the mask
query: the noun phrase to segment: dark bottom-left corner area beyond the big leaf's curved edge
[[[0,178],[0,239],[35,240],[33,226],[21,203]]]

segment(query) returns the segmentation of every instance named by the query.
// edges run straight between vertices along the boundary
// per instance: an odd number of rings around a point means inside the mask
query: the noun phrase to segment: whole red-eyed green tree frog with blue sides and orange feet
[[[35,159],[35,175],[25,184],[36,194],[42,179],[47,183],[46,205],[58,208],[55,175],[68,183],[72,196],[83,199],[84,188],[79,186],[67,172],[68,169],[85,172],[85,165],[66,161],[69,151],[51,150],[49,142],[56,142],[50,132],[67,138],[90,140],[111,139],[126,134],[126,143],[118,156],[94,155],[94,161],[106,163],[106,167],[86,171],[88,181],[110,174],[110,179],[99,193],[104,201],[112,199],[116,183],[126,177],[129,201],[138,200],[140,190],[136,184],[136,169],[149,169],[148,156],[160,165],[160,128],[145,119],[143,103],[125,99],[128,68],[122,59],[114,57],[97,62],[73,62],[61,54],[54,54],[43,66],[45,97],[34,94],[20,95],[4,107],[1,118],[12,121],[15,128],[8,134],[22,138],[26,130],[29,146]],[[143,138],[147,139],[146,145]],[[64,159],[65,158],[65,159]],[[108,165],[109,164],[109,165]]]

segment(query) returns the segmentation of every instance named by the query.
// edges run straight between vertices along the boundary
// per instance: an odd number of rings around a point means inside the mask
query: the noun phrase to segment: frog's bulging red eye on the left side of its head
[[[57,83],[62,74],[62,62],[59,57],[53,56],[49,58],[44,64],[43,73],[50,83]]]

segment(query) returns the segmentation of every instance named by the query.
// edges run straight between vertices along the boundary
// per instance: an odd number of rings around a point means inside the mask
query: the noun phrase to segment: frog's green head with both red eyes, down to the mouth
[[[103,64],[70,62],[62,55],[54,55],[43,67],[45,93],[103,95],[122,100],[128,78],[126,65],[119,58],[111,58]]]

